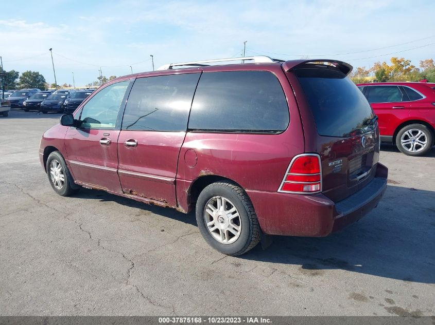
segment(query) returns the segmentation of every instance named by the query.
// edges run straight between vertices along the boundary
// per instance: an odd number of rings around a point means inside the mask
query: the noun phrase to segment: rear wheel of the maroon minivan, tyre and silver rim
[[[202,237],[223,254],[246,253],[260,239],[251,200],[231,182],[213,183],[202,190],[196,204],[196,220]]]

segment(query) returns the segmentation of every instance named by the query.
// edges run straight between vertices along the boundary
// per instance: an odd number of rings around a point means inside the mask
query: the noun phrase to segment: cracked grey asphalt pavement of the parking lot
[[[387,193],[343,232],[229,257],[192,213],[56,195],[38,147],[58,119],[0,118],[0,315],[435,315],[435,149],[383,145]]]

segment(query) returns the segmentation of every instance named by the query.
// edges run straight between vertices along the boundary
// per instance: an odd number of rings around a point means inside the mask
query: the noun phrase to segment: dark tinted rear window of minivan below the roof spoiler
[[[350,137],[373,126],[372,108],[344,73],[330,68],[295,69],[321,136]]]

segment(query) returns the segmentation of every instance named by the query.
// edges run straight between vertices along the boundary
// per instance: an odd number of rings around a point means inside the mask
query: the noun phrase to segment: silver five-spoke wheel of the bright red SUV
[[[397,133],[396,145],[405,155],[422,156],[432,148],[433,135],[422,124],[410,124]]]

